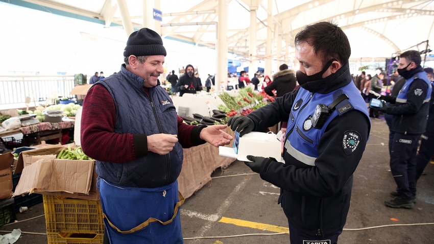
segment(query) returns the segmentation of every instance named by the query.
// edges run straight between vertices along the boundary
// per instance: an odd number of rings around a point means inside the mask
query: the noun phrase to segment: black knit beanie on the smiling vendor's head
[[[127,46],[124,50],[124,57],[134,56],[166,56],[166,49],[160,35],[148,28],[142,28],[131,33],[128,37]]]

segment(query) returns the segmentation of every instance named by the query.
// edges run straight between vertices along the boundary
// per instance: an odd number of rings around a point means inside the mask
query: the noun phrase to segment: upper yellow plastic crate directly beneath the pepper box
[[[43,195],[43,202],[47,233],[104,234],[100,201]]]

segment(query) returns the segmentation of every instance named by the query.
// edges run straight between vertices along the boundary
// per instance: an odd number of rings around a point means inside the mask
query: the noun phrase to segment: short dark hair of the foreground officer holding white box
[[[324,21],[306,26],[297,33],[294,44],[298,46],[302,42],[314,47],[315,54],[321,56],[323,64],[333,58],[345,64],[351,55],[347,35],[333,22]]]

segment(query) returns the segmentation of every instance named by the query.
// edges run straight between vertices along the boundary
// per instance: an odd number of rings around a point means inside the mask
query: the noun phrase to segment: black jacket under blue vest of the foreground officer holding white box
[[[348,64],[333,75],[302,87],[310,92],[333,92],[351,81]],[[255,112],[247,115],[255,123],[255,131],[287,121],[299,89],[286,93]],[[313,111],[312,111],[313,112]],[[342,141],[345,132],[356,131],[361,136],[356,150],[347,155]],[[350,207],[353,173],[365,150],[370,131],[369,118],[357,110],[335,117],[326,127],[318,144],[315,166],[286,160],[271,162],[267,173],[262,162],[260,177],[281,188],[281,206],[299,231],[309,235],[328,235],[342,230]]]

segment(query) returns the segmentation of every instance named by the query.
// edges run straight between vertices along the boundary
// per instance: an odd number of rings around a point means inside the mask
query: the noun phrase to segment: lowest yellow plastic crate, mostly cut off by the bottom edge
[[[57,243],[103,243],[104,234],[82,234],[82,233],[48,233],[48,244]]]

